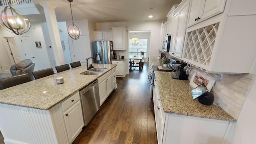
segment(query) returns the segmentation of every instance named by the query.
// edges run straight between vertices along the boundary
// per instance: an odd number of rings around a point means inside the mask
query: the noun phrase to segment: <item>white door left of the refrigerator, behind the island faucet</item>
[[[86,65],[86,58],[91,57],[91,52],[89,49],[90,47],[88,47],[86,44],[86,36],[80,36],[78,40],[71,39],[70,53],[72,62],[80,61],[82,65]]]

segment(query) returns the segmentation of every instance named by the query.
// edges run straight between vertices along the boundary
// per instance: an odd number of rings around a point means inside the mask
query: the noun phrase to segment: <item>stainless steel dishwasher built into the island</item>
[[[100,94],[98,80],[79,90],[80,100],[84,116],[84,126],[92,120],[94,115],[100,109]]]

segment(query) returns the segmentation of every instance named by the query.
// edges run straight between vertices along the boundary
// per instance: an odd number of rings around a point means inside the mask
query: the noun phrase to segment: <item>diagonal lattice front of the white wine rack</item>
[[[209,66],[219,22],[188,32],[184,58]]]

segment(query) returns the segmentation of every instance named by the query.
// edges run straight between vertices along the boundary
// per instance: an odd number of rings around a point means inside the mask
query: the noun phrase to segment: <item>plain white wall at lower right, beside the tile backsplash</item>
[[[254,70],[255,71],[255,70]],[[254,73],[256,74],[256,73]],[[256,80],[248,92],[238,120],[232,124],[226,144],[255,144],[256,143]]]

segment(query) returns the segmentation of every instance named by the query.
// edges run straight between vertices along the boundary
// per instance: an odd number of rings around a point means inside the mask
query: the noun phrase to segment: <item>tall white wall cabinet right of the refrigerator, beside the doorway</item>
[[[127,50],[127,30],[125,26],[112,27],[113,49]]]

